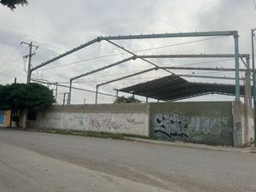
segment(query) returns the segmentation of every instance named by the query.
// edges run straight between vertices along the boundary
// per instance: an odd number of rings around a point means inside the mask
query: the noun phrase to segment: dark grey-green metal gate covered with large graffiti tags
[[[232,102],[151,103],[150,137],[233,145]]]

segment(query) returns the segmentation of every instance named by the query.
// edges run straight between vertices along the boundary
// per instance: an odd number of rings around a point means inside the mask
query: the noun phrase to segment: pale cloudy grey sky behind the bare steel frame
[[[0,5],[0,84],[26,83],[26,42],[38,45],[33,49],[32,66],[84,44],[98,36],[129,34],[156,34],[166,32],[233,31],[239,33],[240,53],[251,53],[251,29],[256,27],[256,9],[253,0],[28,0],[28,6],[15,11]],[[225,38],[165,38],[122,40],[114,43],[137,55],[165,54],[232,54],[234,40]],[[69,79],[99,67],[123,60],[131,55],[108,42],[92,44],[72,55],[41,67],[32,73],[32,79],[44,79],[68,85]],[[220,59],[149,59],[161,67],[234,67],[233,60]],[[127,61],[101,73],[77,79],[73,86],[96,90],[96,84],[136,73],[152,67],[139,59]],[[244,67],[240,62],[240,67]],[[172,71],[177,74],[204,74],[234,77],[234,73],[202,71]],[[113,102],[120,89],[132,84],[157,79],[170,73],[158,70],[130,79],[106,84],[99,91],[113,96],[99,96],[98,102]],[[244,74],[241,73],[241,77]],[[195,82],[234,84],[233,80],[184,78]],[[243,82],[241,82],[242,84]],[[55,86],[50,86],[55,90]],[[57,102],[63,102],[67,88],[58,87]],[[120,96],[120,95],[119,95]],[[124,95],[129,96],[129,95]],[[145,101],[143,97],[137,97]],[[200,96],[189,101],[234,100],[233,96]],[[155,100],[149,100],[155,102]],[[72,103],[93,103],[95,94],[73,90]]]

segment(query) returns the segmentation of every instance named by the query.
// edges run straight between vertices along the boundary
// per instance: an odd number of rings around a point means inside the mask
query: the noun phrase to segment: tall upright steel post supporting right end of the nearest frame
[[[240,101],[240,84],[239,84],[239,45],[238,35],[234,35],[235,40],[235,68],[236,68],[236,101]]]

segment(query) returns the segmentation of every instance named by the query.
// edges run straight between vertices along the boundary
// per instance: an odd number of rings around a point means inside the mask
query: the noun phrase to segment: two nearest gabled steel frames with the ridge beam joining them
[[[186,38],[186,37],[216,37],[216,36],[233,36],[234,38],[234,48],[235,48],[235,51],[234,51],[234,55],[212,55],[212,57],[216,58],[216,57],[233,57],[235,58],[235,73],[236,73],[236,100],[239,101],[240,100],[240,82],[239,82],[239,57],[246,57],[247,58],[247,55],[239,55],[239,46],[238,46],[238,32],[237,31],[218,31],[218,32],[179,32],[179,33],[163,33],[163,34],[146,34],[146,35],[128,35],[128,36],[109,36],[109,37],[98,37],[98,38],[95,38],[89,42],[87,42],[86,44],[81,44],[79,47],[76,47],[74,49],[71,49],[71,50],[68,50],[67,52],[61,54],[61,55],[58,55],[52,59],[50,59],[49,61],[45,61],[44,63],[38,65],[37,67],[33,67],[28,73],[31,75],[31,73],[35,70],[37,70],[38,68],[40,67],[44,67],[46,65],[48,65],[49,63],[53,62],[53,61],[56,61],[56,60],[59,60],[61,59],[62,57],[66,56],[66,55],[70,55],[72,54],[73,52],[75,51],[78,51],[79,49],[83,49],[87,46],[89,46],[90,44],[95,44],[96,42],[101,42],[102,40],[105,40],[107,41],[108,43],[110,44],[113,44],[114,46],[118,47],[119,49],[123,49],[125,50],[126,52],[130,53],[131,57],[129,58],[126,58],[125,60],[123,61],[118,61],[118,62],[115,62],[111,65],[108,65],[108,66],[105,66],[105,67],[101,67],[101,68],[98,68],[96,70],[93,70],[89,73],[84,73],[84,74],[81,74],[79,76],[76,76],[72,79],[70,79],[70,90],[69,90],[69,98],[68,98],[68,104],[71,103],[71,90],[72,90],[72,81],[74,79],[79,79],[79,78],[82,78],[86,75],[89,75],[89,74],[92,74],[92,73],[97,73],[97,72],[100,72],[104,69],[107,69],[109,67],[114,67],[114,66],[117,66],[121,63],[124,63],[125,61],[130,61],[132,59],[142,59],[143,61],[146,61],[148,62],[150,65],[153,65],[154,67],[159,67],[158,65],[156,65],[154,62],[151,62],[151,61],[148,61],[147,58],[201,58],[203,56],[201,55],[176,55],[176,57],[174,57],[175,55],[169,55],[169,57],[161,57],[163,55],[157,55],[157,57],[150,57],[149,55],[147,55],[146,57],[143,57],[143,55],[139,56],[132,53],[131,51],[129,51],[128,49],[125,49],[121,46],[119,46],[118,44],[115,44],[112,42],[112,40],[129,40],[129,39],[148,39],[148,38]],[[211,57],[211,55],[205,55],[205,57]],[[166,72],[168,73],[172,73],[170,72],[167,68],[163,68],[163,70],[165,70]],[[247,61],[247,70],[249,71],[249,64],[248,64],[248,61]],[[145,72],[146,73],[146,72]],[[250,81],[250,80],[249,80]]]

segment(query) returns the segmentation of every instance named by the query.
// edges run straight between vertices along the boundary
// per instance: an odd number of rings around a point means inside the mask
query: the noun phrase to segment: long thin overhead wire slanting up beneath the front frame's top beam
[[[148,51],[148,50],[153,50],[153,49],[163,49],[163,48],[173,47],[173,46],[178,46],[178,45],[183,45],[183,44],[193,44],[193,43],[198,43],[198,42],[201,42],[201,41],[212,40],[212,39],[216,39],[216,38],[224,38],[224,37],[221,36],[221,37],[214,37],[214,38],[202,38],[202,39],[195,40],[195,41],[188,41],[188,42],[183,42],[183,43],[179,43],[179,44],[169,44],[169,45],[160,46],[160,47],[154,47],[154,48],[149,48],[149,49],[134,50],[134,51],[131,51],[131,52],[133,52],[133,53],[139,53],[139,52]],[[111,55],[96,56],[96,57],[92,57],[92,58],[89,58],[89,59],[84,59],[84,60],[80,60],[80,61],[69,62],[69,63],[62,64],[62,65],[59,65],[59,66],[56,66],[56,67],[44,68],[44,69],[41,69],[41,70],[39,70],[39,71],[45,71],[45,70],[49,70],[49,69],[53,69],[53,68],[58,68],[58,67],[66,67],[66,66],[69,66],[69,65],[75,65],[75,64],[80,63],[80,62],[92,61],[92,60],[102,59],[102,58],[106,58],[106,57],[110,57],[110,56],[127,55],[127,54],[129,54],[129,53],[120,53],[120,54],[111,54]]]

